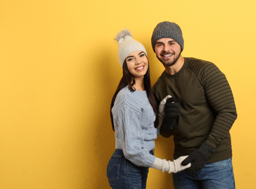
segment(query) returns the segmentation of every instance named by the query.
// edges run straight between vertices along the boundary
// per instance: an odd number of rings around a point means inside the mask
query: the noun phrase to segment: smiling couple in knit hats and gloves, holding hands
[[[123,77],[111,102],[116,150],[107,167],[112,188],[145,188],[148,169],[173,173],[175,188],[235,188],[229,130],[236,106],[225,75],[204,60],[183,57],[175,23],[156,25],[151,44],[165,71],[151,89],[143,44],[116,36]],[[157,135],[174,135],[174,160],[154,156]]]

